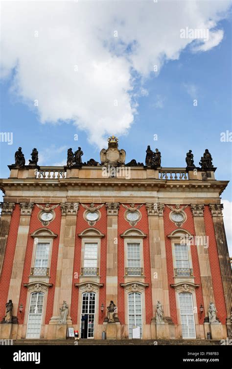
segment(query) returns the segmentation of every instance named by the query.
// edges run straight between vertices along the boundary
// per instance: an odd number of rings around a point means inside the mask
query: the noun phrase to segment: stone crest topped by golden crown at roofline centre
[[[100,159],[102,165],[121,166],[125,164],[126,152],[118,150],[118,139],[115,136],[108,138],[108,149],[102,149]]]

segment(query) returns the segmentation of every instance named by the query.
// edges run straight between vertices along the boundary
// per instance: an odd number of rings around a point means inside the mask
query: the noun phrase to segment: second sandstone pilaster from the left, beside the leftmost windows
[[[20,223],[15,246],[15,254],[10,279],[10,286],[7,297],[7,301],[11,299],[14,304],[13,316],[17,316],[19,308],[20,290],[23,278],[23,267],[26,255],[26,246],[29,234],[31,212],[33,208],[34,208],[33,203],[20,203],[21,210]]]

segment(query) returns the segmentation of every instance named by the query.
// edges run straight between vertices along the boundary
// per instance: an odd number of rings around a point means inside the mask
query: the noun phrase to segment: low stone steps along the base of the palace
[[[78,345],[220,345],[216,340],[79,340]],[[74,345],[74,340],[14,340],[14,345]]]

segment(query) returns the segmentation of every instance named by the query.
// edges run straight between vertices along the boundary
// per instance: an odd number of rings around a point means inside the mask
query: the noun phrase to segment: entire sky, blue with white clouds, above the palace
[[[0,142],[0,177],[19,146],[40,165],[64,165],[78,146],[99,161],[116,134],[127,162],[151,145],[163,167],[185,167],[189,149],[198,165],[208,148],[216,179],[231,181],[231,5],[2,1],[0,132],[13,141]],[[222,203],[231,248],[231,184]]]

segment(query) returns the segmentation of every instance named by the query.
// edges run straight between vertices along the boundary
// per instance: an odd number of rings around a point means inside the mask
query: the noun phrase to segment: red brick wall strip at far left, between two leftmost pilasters
[[[3,316],[5,316],[5,304],[7,302],[8,290],[10,285],[10,277],[14,260],[19,220],[20,207],[18,204],[16,204],[11,216],[9,234],[7,237],[5,256],[0,277],[0,321],[2,320]],[[12,302],[14,304],[14,296],[10,298],[12,299]]]

